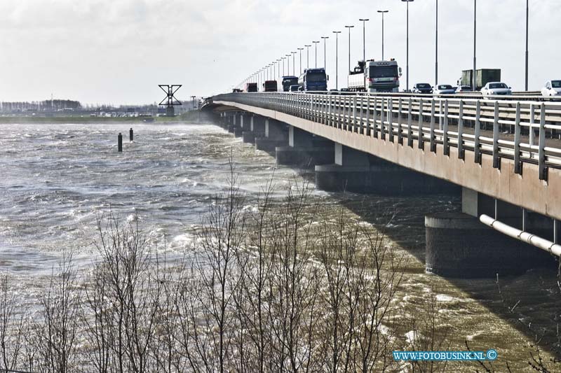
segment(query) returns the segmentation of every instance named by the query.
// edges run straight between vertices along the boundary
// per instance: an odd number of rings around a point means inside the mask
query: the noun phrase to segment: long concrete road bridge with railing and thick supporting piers
[[[461,193],[426,216],[426,269],[511,274],[561,255],[561,103],[541,97],[232,93],[205,105],[231,132],[309,164],[316,188]]]

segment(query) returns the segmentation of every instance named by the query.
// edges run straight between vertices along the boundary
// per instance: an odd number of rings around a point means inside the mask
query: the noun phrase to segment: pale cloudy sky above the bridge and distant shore
[[[456,84],[473,66],[473,0],[438,3],[438,81]],[[182,84],[178,99],[231,91],[244,78],[312,41],[330,88],[363,56],[403,68],[406,3],[399,0],[0,0],[0,101],[50,98],[83,104],[148,104],[165,95],[158,84]],[[502,80],[524,89],[525,0],[478,0],[477,66],[502,69]],[[529,90],[561,79],[561,0],[529,0]],[[434,84],[435,0],[410,3],[410,87]],[[335,34],[339,69],[335,71]],[[296,73],[299,55],[296,55]],[[302,68],[315,49],[302,51]],[[285,66],[286,69],[286,66]],[[276,69],[278,76],[278,68]],[[282,74],[282,69],[281,69]],[[286,71],[285,71],[286,72]],[[292,72],[292,59],[290,60]]]

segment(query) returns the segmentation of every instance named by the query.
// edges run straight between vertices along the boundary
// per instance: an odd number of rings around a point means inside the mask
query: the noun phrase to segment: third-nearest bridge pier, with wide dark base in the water
[[[313,167],[316,164],[330,164],[334,160],[332,141],[293,126],[288,127],[288,146],[277,146],[275,151],[277,164]]]

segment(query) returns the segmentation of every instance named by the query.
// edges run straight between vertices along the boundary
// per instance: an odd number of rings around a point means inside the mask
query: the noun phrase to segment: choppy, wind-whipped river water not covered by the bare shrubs
[[[133,125],[133,143],[128,142],[128,127],[0,125],[0,273],[18,278],[22,292],[39,291],[41,279],[56,267],[64,251],[76,251],[78,264],[87,266],[96,218],[109,209],[123,218],[136,211],[150,234],[165,235],[167,249],[181,252],[189,241],[189,227],[199,223],[212,197],[228,187],[230,156],[250,197],[271,176],[282,189],[296,175],[209,123]],[[116,152],[119,132],[126,140],[123,153]],[[496,349],[499,367],[508,360],[513,372],[529,369],[527,345],[532,333],[527,323],[533,322],[539,332],[555,328],[550,320],[561,299],[555,274],[539,269],[501,279],[506,303],[492,280],[448,281],[425,274],[424,213],[457,209],[457,198],[324,192],[315,192],[313,198],[343,204],[370,223],[396,213],[389,237],[410,259],[400,293],[404,314],[414,318],[419,302],[435,292],[440,323],[452,328],[447,349],[463,349],[468,339],[475,350]],[[505,311],[505,304],[518,300],[515,312]],[[446,371],[474,368],[459,363]]]

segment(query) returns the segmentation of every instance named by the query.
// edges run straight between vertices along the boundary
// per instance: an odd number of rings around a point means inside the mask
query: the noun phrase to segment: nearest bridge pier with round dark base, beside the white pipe
[[[462,188],[462,212],[425,216],[426,272],[475,278],[522,274],[530,268],[552,265],[548,253],[493,230],[481,223],[483,213],[501,222],[538,233],[543,220],[522,209],[475,190]],[[552,223],[553,227],[553,223]],[[553,230],[551,230],[553,232]]]

